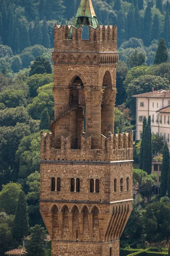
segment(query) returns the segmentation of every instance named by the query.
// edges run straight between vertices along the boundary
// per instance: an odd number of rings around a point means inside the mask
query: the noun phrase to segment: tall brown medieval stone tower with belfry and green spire
[[[91,0],[81,0],[73,25],[55,26],[40,212],[52,256],[118,256],[132,209],[133,133],[114,134],[117,27],[98,25]]]

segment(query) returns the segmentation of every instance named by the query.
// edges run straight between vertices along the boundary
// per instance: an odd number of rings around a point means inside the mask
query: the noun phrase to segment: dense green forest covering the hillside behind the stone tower
[[[135,130],[132,96],[152,87],[170,88],[170,3],[92,3],[98,23],[118,26],[115,133]],[[17,248],[28,235],[29,256],[50,253],[39,212],[40,131],[49,130],[49,119],[54,116],[53,27],[55,23],[72,24],[78,4],[79,0],[0,0],[0,255]],[[133,185],[138,184],[139,192],[149,196],[155,176],[143,167],[138,169],[141,145],[135,142]],[[163,137],[150,136],[151,154],[162,155],[166,147]],[[164,180],[167,183],[167,177]],[[147,206],[140,195],[134,198],[122,244],[144,249],[162,243],[166,245],[158,250],[167,252],[170,199],[165,195],[166,191]],[[35,239],[42,241],[37,251],[32,249]]]

